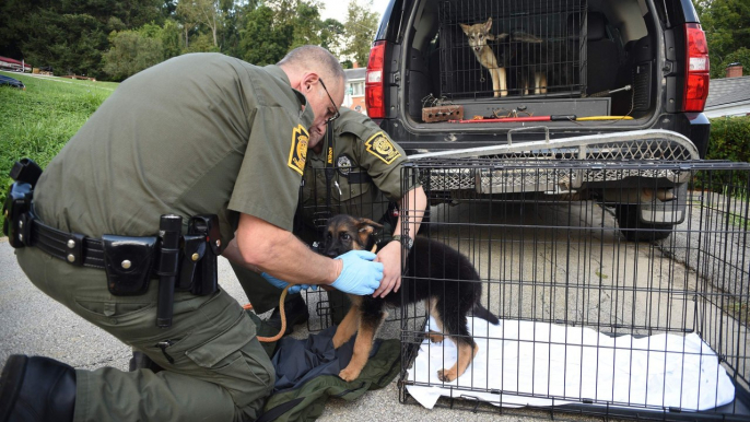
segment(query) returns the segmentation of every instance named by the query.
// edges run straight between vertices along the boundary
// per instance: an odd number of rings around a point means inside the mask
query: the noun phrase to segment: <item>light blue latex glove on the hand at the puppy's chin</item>
[[[371,262],[376,256],[367,250],[350,250],[336,257],[343,261],[343,268],[331,285],[360,296],[375,293],[383,280],[383,263]]]

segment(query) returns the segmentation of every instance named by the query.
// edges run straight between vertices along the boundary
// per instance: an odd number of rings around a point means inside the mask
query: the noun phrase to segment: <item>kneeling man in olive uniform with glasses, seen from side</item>
[[[185,222],[218,214],[228,259],[293,284],[372,294],[383,271],[370,261],[374,255],[328,259],[291,234],[308,142],[315,146],[308,130],[325,130],[338,114],[343,81],[336,58],[313,46],[265,68],[195,54],[147,69],[125,81],[47,166],[34,191],[36,214],[92,239],[154,236],[162,214]],[[68,241],[72,263],[33,244],[16,249],[19,263],[39,290],[166,371],[82,371],[13,355],[0,379],[1,421],[257,417],[274,372],[234,298],[221,289],[176,292],[172,325],[159,328],[159,280],[143,294],[113,295],[104,270],[81,266],[77,241]]]

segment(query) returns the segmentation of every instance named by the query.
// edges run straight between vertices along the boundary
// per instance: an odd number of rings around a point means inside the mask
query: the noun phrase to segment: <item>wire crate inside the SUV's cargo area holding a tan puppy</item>
[[[441,94],[449,99],[581,96],[586,8],[586,0],[442,1]],[[483,45],[491,52],[480,49]]]

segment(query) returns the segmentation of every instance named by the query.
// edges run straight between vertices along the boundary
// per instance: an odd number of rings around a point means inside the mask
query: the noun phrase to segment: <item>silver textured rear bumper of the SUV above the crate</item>
[[[493,146],[453,150],[411,155],[412,161],[468,159],[487,166],[436,168],[423,174],[423,183],[431,191],[471,190],[478,194],[513,194],[529,191],[570,191],[584,185],[618,184],[632,177],[659,178],[669,184],[688,180],[688,172],[651,169],[656,161],[692,161],[700,153],[684,136],[667,130],[635,130],[558,140],[546,139],[527,143],[505,143]],[[539,167],[534,162],[541,163]],[[550,164],[587,162],[581,168],[555,168]],[[645,163],[645,166],[610,171],[607,162]],[[504,164],[526,163],[528,167],[508,173]],[[597,165],[601,163],[602,165]],[[511,177],[509,177],[511,176]]]

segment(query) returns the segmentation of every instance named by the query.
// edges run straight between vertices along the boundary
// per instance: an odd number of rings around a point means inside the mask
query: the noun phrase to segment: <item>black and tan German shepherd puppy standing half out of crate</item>
[[[371,250],[375,245],[373,232],[380,227],[380,224],[368,219],[343,214],[332,216],[326,227],[324,254],[337,257],[350,250]],[[443,341],[445,335],[458,348],[456,364],[449,370],[437,371],[441,380],[452,382],[464,374],[477,354],[477,343],[468,330],[467,314],[473,310],[474,316],[494,325],[500,321],[480,304],[482,284],[479,282],[479,274],[471,262],[457,250],[426,237],[417,237],[406,262],[406,274],[410,279],[401,283],[405,301],[425,301],[430,314],[443,332],[430,332],[430,340]],[[356,331],[359,335],[352,360],[339,373],[342,379],[350,382],[360,376],[367,363],[375,333],[387,316],[383,310],[384,306],[401,306],[402,292],[390,292],[383,298],[349,295],[352,307],[336,330],[333,347],[340,348]]]

